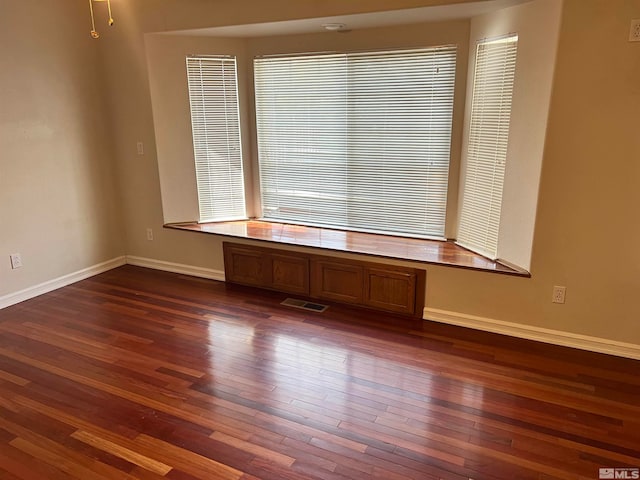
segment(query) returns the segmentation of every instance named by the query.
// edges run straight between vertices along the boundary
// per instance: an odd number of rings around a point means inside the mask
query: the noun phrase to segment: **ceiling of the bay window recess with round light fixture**
[[[471,18],[531,0],[486,0],[454,5],[389,10],[386,12],[341,15],[336,17],[308,18],[283,22],[230,25],[225,27],[199,28],[167,32],[174,35],[194,35],[212,37],[264,37],[272,35],[293,35],[323,32],[323,24],[342,23],[345,30],[359,30],[391,25],[406,25],[422,22],[440,22]]]

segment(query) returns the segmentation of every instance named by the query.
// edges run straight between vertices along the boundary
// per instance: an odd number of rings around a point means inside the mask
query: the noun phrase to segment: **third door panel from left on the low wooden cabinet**
[[[311,295],[346,303],[362,303],[363,268],[326,260],[312,262]]]

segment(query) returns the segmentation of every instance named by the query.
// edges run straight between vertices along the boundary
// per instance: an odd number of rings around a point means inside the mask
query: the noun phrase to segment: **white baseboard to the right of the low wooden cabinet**
[[[422,318],[459,327],[640,360],[640,345],[633,343],[618,342],[606,338],[590,337],[531,325],[521,325],[492,318],[476,317],[437,308],[425,308]]]

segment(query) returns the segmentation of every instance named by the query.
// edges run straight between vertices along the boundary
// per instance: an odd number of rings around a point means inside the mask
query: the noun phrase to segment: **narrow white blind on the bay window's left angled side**
[[[246,218],[236,59],[187,57],[200,221]]]

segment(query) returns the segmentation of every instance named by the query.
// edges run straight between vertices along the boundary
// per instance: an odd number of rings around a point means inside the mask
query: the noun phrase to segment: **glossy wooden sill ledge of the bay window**
[[[165,228],[312,247],[335,252],[358,253],[505,275],[531,276],[526,270],[512,268],[500,262],[489,260],[482,255],[459,247],[451,241],[393,237],[390,235],[348,232],[259,220],[168,223]]]

